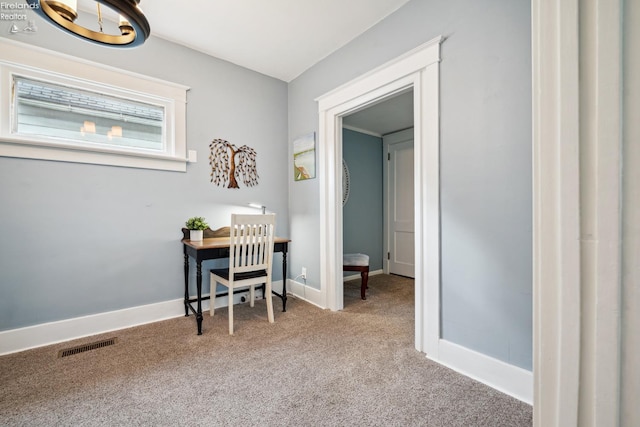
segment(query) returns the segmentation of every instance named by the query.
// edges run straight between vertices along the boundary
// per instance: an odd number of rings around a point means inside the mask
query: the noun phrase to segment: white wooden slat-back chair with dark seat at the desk
[[[233,335],[233,291],[249,287],[249,301],[254,306],[255,286],[265,284],[267,317],[273,323],[271,301],[271,268],[273,264],[273,238],[276,227],[275,214],[231,215],[229,268],[210,270],[211,308],[213,316],[216,304],[217,283],[229,290],[229,335]]]

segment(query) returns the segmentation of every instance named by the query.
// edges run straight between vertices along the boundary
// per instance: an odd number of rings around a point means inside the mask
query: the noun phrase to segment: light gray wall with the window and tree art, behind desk
[[[36,34],[9,36],[6,21],[0,34],[189,86],[187,148],[198,162],[179,173],[0,157],[0,330],[181,298],[190,216],[217,228],[261,202],[289,234],[286,83],[162,39],[115,50],[36,19]],[[213,138],[256,149],[256,187],[210,183]]]

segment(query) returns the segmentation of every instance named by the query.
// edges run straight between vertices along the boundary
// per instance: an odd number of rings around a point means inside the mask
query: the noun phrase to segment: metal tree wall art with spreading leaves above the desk
[[[227,188],[240,188],[238,180],[247,187],[258,184],[256,150],[246,145],[238,148],[224,139],[214,139],[209,148],[211,182]]]

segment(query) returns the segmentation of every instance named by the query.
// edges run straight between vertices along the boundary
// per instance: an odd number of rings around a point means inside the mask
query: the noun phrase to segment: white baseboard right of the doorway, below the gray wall
[[[533,373],[446,340],[438,344],[438,358],[427,358],[498,391],[533,405]]]

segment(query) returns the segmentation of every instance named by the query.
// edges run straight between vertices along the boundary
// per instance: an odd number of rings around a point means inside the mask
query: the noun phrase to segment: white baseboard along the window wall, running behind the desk
[[[273,282],[272,286],[276,292],[282,291],[281,280]],[[209,296],[209,294],[202,296]],[[235,294],[235,303],[240,302],[243,296],[245,296],[244,293]],[[260,295],[260,297],[262,296]],[[216,298],[216,308],[226,307],[228,301],[226,296]],[[209,300],[202,301],[202,311],[208,310]],[[184,316],[182,298],[1,331],[0,356],[180,316]],[[190,313],[190,316],[193,317],[193,314]]]

